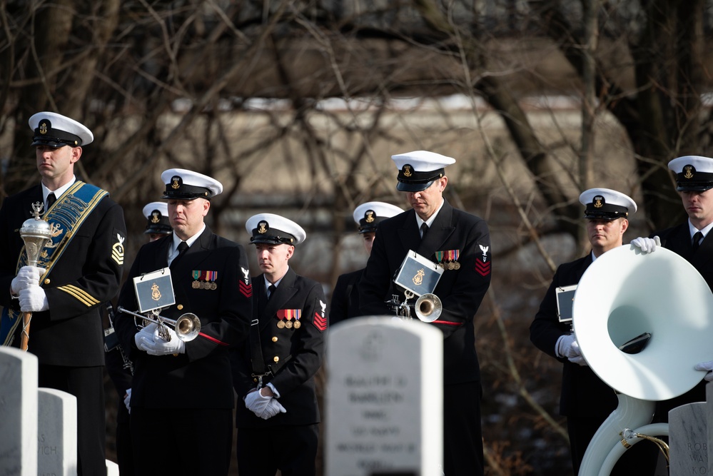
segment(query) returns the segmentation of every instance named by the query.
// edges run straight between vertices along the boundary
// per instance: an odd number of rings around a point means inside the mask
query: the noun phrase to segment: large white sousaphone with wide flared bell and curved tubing
[[[651,422],[655,402],[694,388],[711,360],[713,294],[687,260],[666,248],[643,254],[633,245],[607,251],[580,280],[572,325],[587,365],[619,393],[619,406],[592,437],[580,476],[609,475],[637,435],[667,435]],[[620,347],[644,339],[642,350]],[[628,430],[628,431],[627,431]]]

